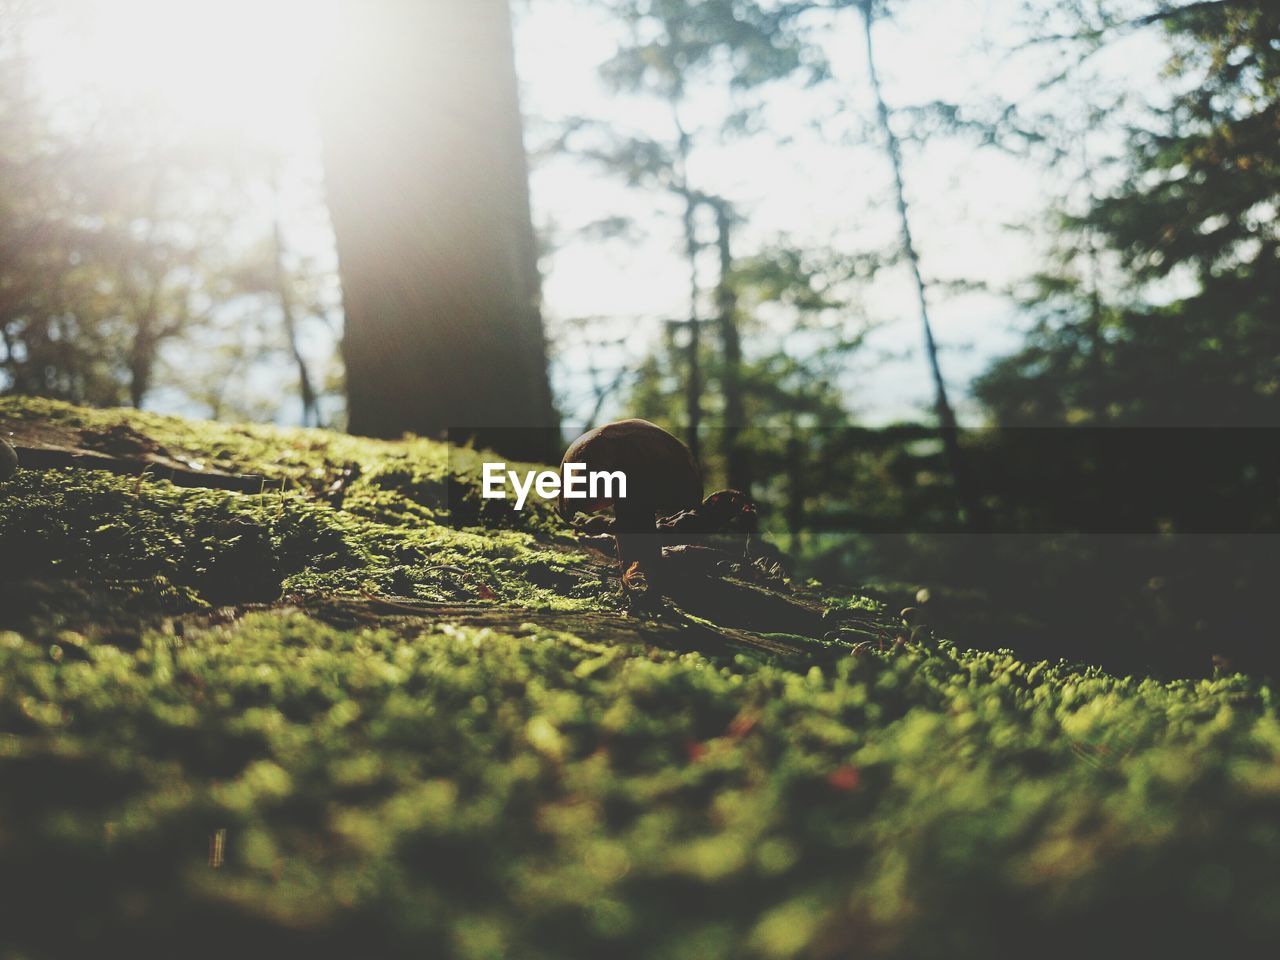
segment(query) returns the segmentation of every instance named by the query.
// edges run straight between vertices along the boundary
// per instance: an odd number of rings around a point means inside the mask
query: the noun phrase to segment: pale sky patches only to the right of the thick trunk
[[[1050,67],[1048,54],[1010,52],[1024,36],[1015,26],[1023,9],[1019,0],[922,0],[900,8],[895,20],[876,28],[878,68],[892,108],[1014,99],[1033,109],[1061,106],[1070,113],[1070,102],[1052,102],[1069,99],[1070,90],[1037,92]],[[614,37],[589,4],[529,4],[520,20],[517,64],[531,146],[538,145],[543,122],[575,114],[634,132],[669,134],[664,108],[620,99],[599,83],[596,69],[612,54]],[[829,86],[769,90],[767,134],[695,154],[690,179],[728,196],[746,215],[737,238],[740,253],[780,237],[842,253],[891,250],[897,243],[891,168],[874,134],[856,15],[846,13],[826,31],[823,45],[835,68]],[[1089,72],[1128,83],[1143,73],[1153,76],[1162,54],[1151,37],[1134,37],[1091,63]],[[694,125],[699,113],[709,125],[724,106],[723,97],[701,95],[691,110]],[[905,146],[905,179],[925,278],[987,287],[987,292],[954,294],[934,285],[929,294],[954,401],[963,416],[975,419],[980,413],[969,402],[966,385],[993,357],[1019,346],[1027,317],[1009,292],[1044,262],[1047,241],[1041,227],[1052,204],[1078,202],[1078,177],[1074,170],[1046,169],[1004,151],[938,138],[927,146]],[[669,201],[659,200],[667,216],[653,223],[652,195],[636,195],[573,161],[535,165],[532,197],[539,225],[562,244],[544,264],[553,329],[573,316],[621,316],[628,352],[635,355],[654,340],[662,317],[687,315],[687,270]],[[645,242],[581,237],[584,225],[616,211],[650,221]],[[922,415],[932,406],[932,385],[909,274],[887,271],[859,293],[855,310],[873,325],[873,333],[867,348],[851,358],[844,380],[851,408],[872,424]],[[582,383],[580,371],[589,364],[582,351],[557,357],[570,408],[585,403],[579,401],[585,390],[573,385]]]

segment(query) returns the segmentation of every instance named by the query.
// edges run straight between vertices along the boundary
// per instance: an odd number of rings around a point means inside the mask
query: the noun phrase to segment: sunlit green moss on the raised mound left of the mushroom
[[[27,608],[47,613],[44,600],[23,602],[31,581],[156,581],[187,591],[177,605],[191,608],[370,590],[556,609],[618,603],[607,577],[557,549],[570,539],[548,507],[516,513],[480,500],[477,457],[467,451],[41,401],[3,401],[0,416],[92,430],[128,424],[175,456],[269,481],[246,495],[147,476],[22,471],[0,494],[0,584],[12,596],[0,621],[10,626]],[[321,494],[348,462],[362,472],[337,509]],[[157,609],[173,607],[157,595]]]

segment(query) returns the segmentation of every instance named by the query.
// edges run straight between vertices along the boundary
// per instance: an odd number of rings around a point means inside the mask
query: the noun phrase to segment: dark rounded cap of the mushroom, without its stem
[[[694,454],[677,438],[648,420],[618,420],[589,430],[570,444],[561,460],[585,463],[589,474],[622,471],[627,502],[643,509],[677,511],[703,502],[703,477]],[[613,500],[568,499],[561,493],[563,517],[596,512]]]

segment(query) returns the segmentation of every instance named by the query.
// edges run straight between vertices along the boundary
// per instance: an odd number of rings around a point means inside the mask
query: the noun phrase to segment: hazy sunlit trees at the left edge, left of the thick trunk
[[[251,219],[241,188],[265,174],[161,109],[55,102],[27,37],[72,29],[79,9],[0,3],[0,389],[97,406],[141,407],[157,387],[192,398],[200,364],[175,348],[201,340],[204,357],[227,352],[212,334],[239,338],[215,316],[244,296],[230,276]]]

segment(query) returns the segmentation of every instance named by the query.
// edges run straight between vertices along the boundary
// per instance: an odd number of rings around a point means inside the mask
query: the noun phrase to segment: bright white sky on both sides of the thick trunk
[[[45,37],[40,51],[46,82],[67,104],[115,104],[125,111],[170,114],[178,127],[268,143],[287,157],[279,202],[297,257],[334,269],[333,238],[324,214],[319,143],[310,91],[332,41],[333,0],[67,0],[82,12],[78,28]],[[590,116],[620,129],[668,136],[666,108],[617,97],[598,79],[614,50],[616,28],[588,0],[517,0],[516,52],[526,142],[536,148],[570,116]],[[1070,115],[1073,97],[1096,78],[1128,87],[1148,82],[1162,49],[1149,36],[1117,44],[1097,58],[1079,82],[1037,92],[1052,65],[1048,49],[1010,50],[1024,36],[1021,0],[915,0],[899,4],[892,22],[877,26],[877,59],[886,99],[902,108],[934,100],[982,104],[1012,99]],[[823,31],[833,79],[818,88],[780,84],[767,91],[768,132],[713,142],[692,157],[695,186],[731,198],[745,215],[735,238],[739,255],[786,239],[845,255],[891,250],[897,242],[891,173],[873,136],[863,37],[855,14]],[[698,91],[686,120],[709,129],[730,106],[716,88]],[[1082,147],[1084,141],[1082,141]],[[1116,142],[1088,145],[1115,151]],[[1079,202],[1076,168],[978,148],[960,140],[905,145],[905,177],[913,232],[928,279],[965,279],[986,292],[931,291],[931,311],[948,384],[963,415],[977,411],[965,385],[993,357],[1016,348],[1027,317],[1007,292],[1041,264],[1041,225],[1060,202]],[[579,161],[534,164],[535,224],[552,252],[544,259],[544,314],[553,337],[576,317],[600,317],[600,339],[616,348],[585,349],[558,337],[553,378],[562,412],[581,421],[590,410],[586,371],[634,364],[658,339],[662,321],[689,311],[689,276],[680,253],[678,218],[671,198],[628,191]],[[259,198],[259,212],[261,212]],[[584,228],[626,214],[640,238],[602,239]],[[713,282],[707,271],[704,285]],[[920,353],[920,323],[905,270],[883,273],[858,291],[850,324],[873,328],[842,378],[850,408],[863,422],[920,416],[931,406]],[[332,355],[338,333],[308,326],[316,366]],[[788,346],[777,323],[759,338]],[[748,344],[751,349],[751,344]],[[282,374],[283,375],[283,374]],[[268,380],[270,376],[268,376]],[[276,388],[257,385],[266,398]],[[607,404],[617,413],[621,402]],[[264,401],[265,402],[265,401]],[[156,407],[180,404],[177,393]],[[287,413],[282,413],[288,419]]]

